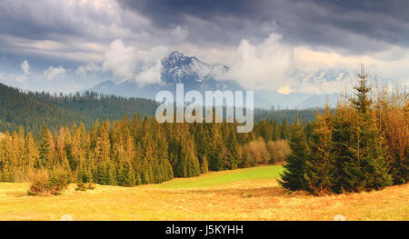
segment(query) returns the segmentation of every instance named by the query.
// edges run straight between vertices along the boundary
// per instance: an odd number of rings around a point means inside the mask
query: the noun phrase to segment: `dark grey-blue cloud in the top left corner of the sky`
[[[106,22],[106,15],[89,13],[73,7],[68,12],[64,3],[46,1],[0,1],[0,34],[27,39],[65,39],[66,36],[93,37],[86,28],[85,17],[95,23]]]

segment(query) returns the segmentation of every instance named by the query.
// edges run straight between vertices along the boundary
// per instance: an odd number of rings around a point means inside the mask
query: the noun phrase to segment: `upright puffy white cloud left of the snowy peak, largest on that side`
[[[134,75],[136,60],[136,48],[126,46],[122,39],[115,39],[105,51],[102,69],[127,79]]]

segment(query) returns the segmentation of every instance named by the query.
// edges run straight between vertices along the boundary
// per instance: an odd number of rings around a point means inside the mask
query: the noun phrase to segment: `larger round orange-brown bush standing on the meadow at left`
[[[29,195],[45,196],[58,195],[69,184],[69,174],[62,169],[55,169],[50,172],[38,170],[31,178]]]

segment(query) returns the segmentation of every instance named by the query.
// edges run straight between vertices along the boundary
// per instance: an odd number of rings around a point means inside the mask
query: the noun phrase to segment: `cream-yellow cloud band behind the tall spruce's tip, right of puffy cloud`
[[[354,75],[365,65],[365,71],[374,80],[378,75],[379,83],[388,83],[393,87],[403,87],[407,82],[409,68],[409,49],[389,45],[386,50],[362,55],[341,55],[333,50],[313,50],[305,46],[294,48],[294,65],[304,71],[314,72],[319,69],[344,68],[350,70],[351,79],[334,82],[306,82],[299,85],[299,90],[306,93],[339,93],[354,83]]]

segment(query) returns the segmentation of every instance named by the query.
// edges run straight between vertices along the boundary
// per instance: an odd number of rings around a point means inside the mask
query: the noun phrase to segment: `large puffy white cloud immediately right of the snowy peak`
[[[293,65],[293,48],[281,42],[281,35],[269,35],[260,45],[242,40],[227,78],[247,89],[277,89],[288,85],[285,75]]]

